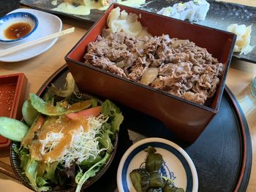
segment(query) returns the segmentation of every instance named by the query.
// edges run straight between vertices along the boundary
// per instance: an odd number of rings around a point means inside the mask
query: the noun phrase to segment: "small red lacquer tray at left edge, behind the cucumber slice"
[[[28,80],[23,73],[0,76],[0,116],[22,118],[22,105]],[[10,140],[0,136],[0,150],[5,150]]]

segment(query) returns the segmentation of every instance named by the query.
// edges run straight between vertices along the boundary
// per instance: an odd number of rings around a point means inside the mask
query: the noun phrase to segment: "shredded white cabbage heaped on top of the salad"
[[[83,126],[72,131],[72,140],[69,143],[69,147],[57,159],[57,161],[64,162],[65,167],[70,167],[74,161],[76,161],[76,164],[80,164],[90,157],[96,158],[99,153],[108,149],[108,147],[99,148],[99,139],[103,132],[102,124],[108,118],[105,118],[104,115],[99,115],[98,117],[90,117],[87,120],[89,126],[88,131],[85,131]],[[39,140],[42,144],[40,153],[45,155],[45,153],[53,150],[63,136],[64,134],[61,131],[59,133],[48,132],[45,139]]]

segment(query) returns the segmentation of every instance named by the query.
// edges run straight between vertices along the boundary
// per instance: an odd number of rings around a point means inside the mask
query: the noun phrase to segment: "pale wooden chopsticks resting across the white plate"
[[[68,28],[68,29],[66,29],[66,30],[57,32],[57,33],[55,33],[55,34],[50,34],[50,35],[48,35],[48,36],[41,37],[41,38],[36,39],[36,40],[34,40],[34,41],[31,41],[31,42],[26,42],[26,43],[24,43],[24,44],[17,45],[17,46],[15,46],[15,47],[10,47],[10,48],[8,48],[8,49],[6,49],[6,50],[0,51],[0,57],[2,57],[2,56],[4,56],[4,55],[9,55],[9,54],[11,54],[11,53],[15,53],[15,52],[17,52],[17,51],[19,51],[19,50],[23,50],[23,49],[25,49],[25,48],[27,48],[27,47],[31,47],[31,46],[33,46],[33,45],[38,45],[38,44],[40,44],[40,43],[42,43],[42,42],[48,41],[48,40],[50,40],[50,39],[54,39],[54,38],[56,38],[56,37],[61,37],[61,36],[65,35],[65,34],[70,34],[70,33],[74,32],[74,31],[75,31],[75,28],[72,27],[72,28]]]

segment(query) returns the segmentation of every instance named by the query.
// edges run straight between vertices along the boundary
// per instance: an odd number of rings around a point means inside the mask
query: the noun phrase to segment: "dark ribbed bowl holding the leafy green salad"
[[[84,100],[94,98],[85,93],[76,93],[76,94],[79,94],[79,96],[83,97]],[[96,98],[94,98],[94,99],[96,99]],[[97,102],[98,102],[98,104],[102,104],[102,101],[99,99],[97,99]],[[90,185],[96,183],[97,180],[99,180],[99,178],[102,177],[102,175],[108,170],[111,162],[113,161],[113,159],[116,155],[116,150],[117,150],[117,145],[118,145],[118,131],[114,135],[112,144],[113,144],[113,151],[110,154],[110,158],[108,159],[106,164],[104,166],[102,166],[102,168],[99,170],[99,172],[97,172],[97,174],[94,177],[89,178],[89,180],[87,180],[86,183],[83,184],[83,187],[81,188],[81,190],[88,188]],[[27,188],[34,191],[34,189],[31,187],[31,185],[29,185],[29,180],[26,177],[26,175],[24,174],[24,170],[20,166],[19,155],[18,155],[18,153],[15,152],[15,149],[18,149],[18,148],[20,148],[20,142],[12,142],[12,144],[10,145],[10,162],[11,162],[13,172],[15,173],[15,175],[16,175],[17,179],[20,181],[20,183],[22,183]],[[65,191],[65,192],[67,192],[67,191],[75,191],[75,188],[76,188],[75,185],[74,186],[70,185],[69,188],[59,189],[57,187],[56,189],[53,189],[50,191],[58,191],[58,192]]]

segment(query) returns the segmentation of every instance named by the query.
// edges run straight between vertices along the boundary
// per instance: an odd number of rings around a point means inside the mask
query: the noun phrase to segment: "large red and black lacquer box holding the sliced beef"
[[[83,55],[86,53],[87,45],[89,42],[94,42],[97,36],[102,33],[102,29],[106,28],[108,15],[116,7],[141,15],[140,23],[153,36],[169,34],[170,37],[189,39],[195,42],[197,46],[205,47],[209,53],[218,58],[219,62],[222,62],[222,77],[209,106],[181,99],[83,63]],[[102,15],[102,18],[69,51],[65,60],[80,91],[118,101],[151,115],[162,120],[177,137],[187,142],[195,142],[195,139],[199,137],[219,110],[235,42],[236,35],[226,31],[167,18],[132,7],[112,4]]]

